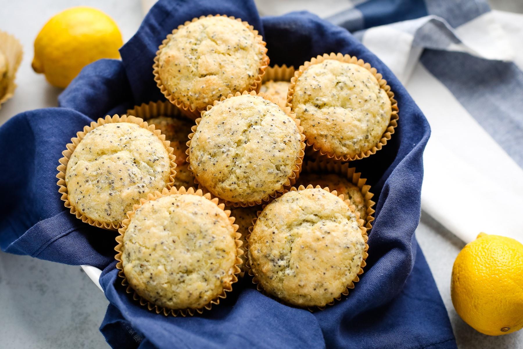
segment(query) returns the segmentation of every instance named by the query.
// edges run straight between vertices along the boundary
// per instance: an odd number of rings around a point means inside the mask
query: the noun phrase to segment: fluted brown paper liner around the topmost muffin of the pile
[[[160,91],[162,92],[162,94],[165,96],[165,98],[167,98],[167,100],[174,104],[175,106],[177,106],[180,110],[182,110],[184,112],[184,114],[186,114],[188,117],[192,118],[192,119],[197,119],[200,117],[200,113],[201,111],[203,110],[206,110],[206,108],[192,108],[189,104],[185,103],[185,102],[182,102],[181,100],[178,100],[175,96],[173,96],[170,91],[163,85],[162,83],[162,80],[160,78],[160,52],[162,51],[162,49],[167,46],[167,43],[170,41],[170,39],[173,37],[173,35],[175,35],[175,33],[181,29],[182,27],[190,24],[191,22],[195,22],[197,21],[198,19],[201,19],[201,18],[205,18],[205,17],[219,17],[219,16],[223,16],[223,17],[229,17],[231,19],[234,19],[234,20],[237,20],[239,22],[242,22],[243,25],[245,25],[249,30],[251,30],[255,37],[256,37],[256,40],[259,41],[260,44],[262,44],[265,48],[265,46],[267,45],[267,43],[263,40],[263,38],[261,37],[261,35],[258,35],[258,31],[254,29],[254,27],[250,24],[248,24],[246,21],[242,21],[240,18],[235,18],[233,16],[226,16],[226,15],[207,15],[207,16],[200,16],[200,17],[195,17],[193,18],[192,20],[188,20],[186,21],[183,25],[179,25],[178,28],[174,29],[172,31],[172,33],[170,33],[169,35],[167,35],[167,37],[162,41],[162,44],[158,47],[158,51],[156,51],[156,57],[154,57],[154,64],[153,64],[153,75],[154,75],[154,81],[156,82],[156,86],[158,86],[158,88],[160,88]],[[267,66],[269,65],[269,57],[267,56],[267,48],[265,48],[264,50],[264,56],[263,56],[263,62],[261,63],[261,66],[258,70],[258,76],[256,76],[254,82],[249,85],[249,86],[246,86],[244,89],[242,89],[242,91],[240,92],[243,92],[243,91],[247,91],[247,92],[251,92],[251,91],[255,91],[255,92],[259,92],[259,89],[261,87],[261,81],[263,80],[263,76],[265,74],[265,70],[267,69]],[[212,104],[212,103],[211,103]]]

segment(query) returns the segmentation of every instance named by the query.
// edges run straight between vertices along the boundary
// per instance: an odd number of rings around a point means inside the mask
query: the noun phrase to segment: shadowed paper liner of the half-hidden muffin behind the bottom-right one
[[[335,173],[347,178],[352,184],[358,187],[363,198],[365,199],[365,207],[367,208],[367,218],[365,219],[365,227],[367,233],[372,229],[372,222],[374,221],[374,212],[372,208],[376,202],[371,198],[374,196],[370,192],[370,185],[365,184],[367,178],[361,178],[361,173],[356,172],[356,168],[349,167],[349,163],[339,163],[336,161],[307,161],[303,165],[302,173]]]

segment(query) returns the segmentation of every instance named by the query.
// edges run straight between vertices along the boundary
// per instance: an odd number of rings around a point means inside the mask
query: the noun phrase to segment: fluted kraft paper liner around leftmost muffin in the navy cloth
[[[67,184],[65,183],[65,172],[67,170],[67,163],[69,163],[69,159],[71,158],[71,155],[73,154],[74,150],[76,149],[77,145],[84,139],[85,135],[89,132],[94,130],[95,128],[105,125],[106,123],[115,123],[115,122],[132,122],[137,125],[139,125],[141,128],[148,129],[160,140],[163,141],[165,148],[167,149],[167,152],[169,153],[169,161],[170,161],[170,175],[169,175],[169,182],[167,182],[167,188],[170,189],[170,187],[174,184],[174,177],[176,175],[176,163],[175,159],[176,156],[173,154],[173,148],[169,147],[170,142],[165,140],[165,136],[161,133],[160,130],[156,130],[154,125],[147,125],[146,121],[143,121],[140,118],[134,117],[134,116],[127,116],[127,115],[113,115],[112,117],[107,115],[105,118],[99,118],[96,122],[93,121],[90,123],[90,125],[84,126],[84,129],[82,131],[76,132],[76,137],[71,138],[71,143],[67,143],[66,150],[62,152],[63,157],[59,160],[60,165],[56,167],[56,170],[58,170],[58,174],[56,175],[56,178],[58,178],[58,182],[56,182],[56,185],[59,186],[59,193],[62,195],[61,199],[64,201],[64,206],[70,210],[70,212],[76,216],[76,218],[81,219],[82,222],[88,223],[92,226],[103,228],[107,230],[118,230],[121,228],[121,222],[118,222],[118,224],[115,224],[114,222],[107,223],[107,222],[100,222],[91,218],[88,218],[85,216],[81,211],[76,210],[76,207],[69,201],[69,193],[67,192]]]

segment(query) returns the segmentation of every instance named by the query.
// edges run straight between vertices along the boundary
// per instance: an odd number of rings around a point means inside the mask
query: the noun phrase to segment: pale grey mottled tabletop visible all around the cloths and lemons
[[[18,37],[25,50],[16,80],[18,88],[13,99],[0,109],[0,124],[24,110],[56,106],[61,90],[31,70],[32,43],[47,19],[78,5],[93,6],[109,14],[118,23],[124,41],[138,29],[142,19],[140,0],[0,0],[0,29]],[[521,0],[491,0],[491,5],[523,13]],[[454,311],[450,273],[464,243],[427,215],[422,215],[416,235],[449,312],[458,346],[523,348],[523,331],[486,336],[470,328]],[[78,266],[0,252],[0,347],[106,348],[98,327],[107,305],[103,292]]]

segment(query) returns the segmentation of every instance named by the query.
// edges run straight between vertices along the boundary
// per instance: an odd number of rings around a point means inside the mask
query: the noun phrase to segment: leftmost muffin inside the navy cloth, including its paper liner
[[[140,118],[99,118],[71,142],[56,168],[59,192],[65,207],[93,226],[117,230],[141,198],[174,183],[173,148]]]

